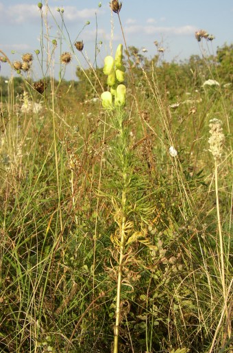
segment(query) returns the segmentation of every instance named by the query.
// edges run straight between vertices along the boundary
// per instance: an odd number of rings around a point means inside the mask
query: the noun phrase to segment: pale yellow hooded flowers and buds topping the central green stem
[[[114,106],[125,105],[126,87],[122,83],[125,80],[125,67],[122,59],[122,44],[119,44],[117,47],[115,58],[109,55],[104,59],[103,73],[108,76],[107,83],[108,86],[110,86],[110,91],[106,91],[101,94],[103,108],[113,109]]]

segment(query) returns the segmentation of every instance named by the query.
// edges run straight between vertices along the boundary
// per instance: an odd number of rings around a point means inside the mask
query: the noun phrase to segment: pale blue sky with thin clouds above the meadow
[[[61,25],[60,14],[57,8],[64,9],[64,23],[69,32],[71,41],[78,36],[84,41],[84,55],[93,62],[95,58],[95,38],[100,52],[98,64],[101,65],[104,56],[111,54],[113,49],[123,38],[116,14],[109,8],[110,0],[47,0],[47,4],[58,25]],[[45,11],[46,1],[41,1]],[[101,2],[101,8],[99,8]],[[41,18],[37,7],[38,1],[32,0],[0,0],[0,49],[10,60],[20,60],[25,52],[34,53],[40,49]],[[164,60],[184,60],[192,54],[201,55],[201,47],[195,39],[195,31],[206,30],[215,36],[214,41],[208,42],[210,53],[224,43],[233,43],[233,1],[232,0],[122,0],[120,12],[125,31],[127,45],[134,45],[138,49],[147,49],[148,57],[157,54],[154,41],[164,47]],[[111,21],[113,20],[113,23]],[[90,25],[85,25],[90,21]],[[57,38],[59,30],[53,17],[48,15],[49,41]],[[111,35],[111,25],[114,30]],[[84,30],[82,30],[84,27]],[[97,31],[97,32],[96,32]],[[62,39],[62,52],[69,52],[69,41],[66,32]],[[46,31],[44,27],[44,36]],[[47,39],[44,37],[44,43]],[[208,49],[206,43],[204,49]],[[14,50],[15,54],[11,54]],[[83,56],[75,52],[82,65],[86,65]],[[58,77],[60,45],[56,49],[54,65],[55,76]],[[143,54],[143,53],[142,53]],[[34,55],[35,56],[35,55]],[[45,56],[46,57],[46,56]],[[77,60],[73,58],[71,65],[66,67],[65,78],[75,79]],[[34,78],[42,77],[36,60],[33,65]],[[1,63],[1,75],[11,74],[10,65]]]

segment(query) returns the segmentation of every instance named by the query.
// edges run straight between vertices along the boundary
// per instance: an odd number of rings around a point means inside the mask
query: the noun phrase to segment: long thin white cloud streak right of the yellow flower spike
[[[180,27],[156,27],[154,25],[131,25],[125,27],[125,33],[127,34],[158,34],[158,33],[166,33],[166,34],[193,34],[197,30],[196,27],[192,25],[185,25]]]

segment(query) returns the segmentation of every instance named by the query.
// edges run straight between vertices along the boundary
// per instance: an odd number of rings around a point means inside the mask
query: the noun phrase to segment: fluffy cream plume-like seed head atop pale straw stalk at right
[[[210,120],[210,138],[208,139],[208,143],[210,144],[209,151],[212,153],[215,160],[221,157],[221,150],[223,147],[223,141],[225,139],[221,128],[221,120],[219,119],[211,119]]]

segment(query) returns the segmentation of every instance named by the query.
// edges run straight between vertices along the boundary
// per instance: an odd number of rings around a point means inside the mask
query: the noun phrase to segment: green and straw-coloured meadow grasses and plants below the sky
[[[110,75],[60,14],[57,80],[49,36],[0,53],[0,352],[232,352],[233,45],[199,32],[200,56],[166,62],[123,37],[126,102],[103,107]]]

